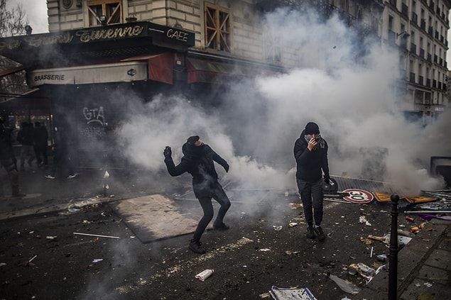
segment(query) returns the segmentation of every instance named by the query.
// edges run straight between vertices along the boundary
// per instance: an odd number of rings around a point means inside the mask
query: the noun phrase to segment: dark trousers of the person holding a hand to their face
[[[320,226],[323,215],[324,191],[322,191],[322,178],[317,182],[305,182],[296,178],[300,199],[303,201],[305,221],[308,226]]]

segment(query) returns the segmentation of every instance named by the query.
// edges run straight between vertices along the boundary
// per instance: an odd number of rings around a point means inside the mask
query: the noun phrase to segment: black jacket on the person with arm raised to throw
[[[172,157],[165,157],[165,164],[171,176],[188,172],[192,176],[192,189],[197,198],[211,196],[210,191],[217,183],[214,162],[229,170],[227,162],[210,148],[209,145],[194,146],[187,143],[182,146],[183,157],[180,164],[174,165]]]

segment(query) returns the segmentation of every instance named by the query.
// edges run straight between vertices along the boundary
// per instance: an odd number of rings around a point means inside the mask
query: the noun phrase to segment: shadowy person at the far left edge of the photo
[[[8,173],[13,197],[21,197],[25,194],[19,193],[17,167],[13,161],[12,133],[13,130],[4,126],[4,118],[0,116],[0,168]]]

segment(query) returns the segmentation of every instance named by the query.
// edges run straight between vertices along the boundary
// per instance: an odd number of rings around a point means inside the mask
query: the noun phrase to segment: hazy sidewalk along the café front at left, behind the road
[[[57,172],[55,179],[45,178],[48,170],[34,168],[33,171],[19,171],[22,198],[11,198],[11,187],[6,172],[0,174],[0,220],[27,216],[49,211],[68,209],[76,203],[93,204],[129,199],[134,196],[155,193],[155,184],[146,173],[136,171],[133,176],[122,170],[108,170],[104,179],[102,169],[75,170],[77,177],[67,179],[65,172]],[[164,189],[163,184],[158,186]],[[108,187],[108,189],[104,189]]]

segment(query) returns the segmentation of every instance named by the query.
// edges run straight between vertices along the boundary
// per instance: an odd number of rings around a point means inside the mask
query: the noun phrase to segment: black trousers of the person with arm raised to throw
[[[198,199],[200,206],[202,206],[202,210],[204,211],[204,216],[202,216],[199,223],[197,224],[194,236],[192,237],[193,241],[200,240],[202,234],[205,231],[205,228],[207,228],[210,221],[212,221],[214,215],[212,198],[221,205],[213,226],[220,226],[224,222],[224,216],[230,208],[229,197],[227,197],[224,189],[222,189],[221,184],[219,184],[219,182],[212,185],[210,194],[211,196],[200,197]]]

